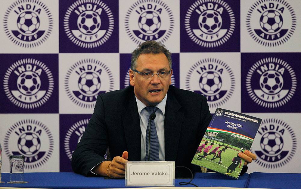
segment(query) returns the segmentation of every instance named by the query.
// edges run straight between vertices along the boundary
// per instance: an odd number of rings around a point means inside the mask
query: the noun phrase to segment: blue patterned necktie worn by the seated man
[[[145,107],[145,110],[151,115],[155,113],[157,107]],[[154,120],[147,120],[146,136],[145,136],[145,161],[148,161],[148,131],[150,134],[150,159],[149,161],[159,161],[159,140],[157,135],[157,129]]]

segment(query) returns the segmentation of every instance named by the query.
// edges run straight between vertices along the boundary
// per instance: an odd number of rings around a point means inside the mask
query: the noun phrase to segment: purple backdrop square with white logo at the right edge
[[[241,53],[242,112],[301,112],[301,53]]]

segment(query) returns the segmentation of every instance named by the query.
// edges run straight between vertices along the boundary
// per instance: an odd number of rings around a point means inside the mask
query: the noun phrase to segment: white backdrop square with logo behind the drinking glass
[[[24,155],[25,172],[59,172],[58,114],[1,114],[2,172],[9,155]]]

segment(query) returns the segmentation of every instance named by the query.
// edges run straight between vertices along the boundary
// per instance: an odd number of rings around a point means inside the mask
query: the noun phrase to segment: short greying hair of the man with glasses
[[[145,41],[141,43],[133,52],[131,57],[131,69],[137,67],[137,59],[141,54],[159,54],[164,53],[169,64],[169,69],[172,69],[171,53],[166,49],[165,45],[157,41]]]

